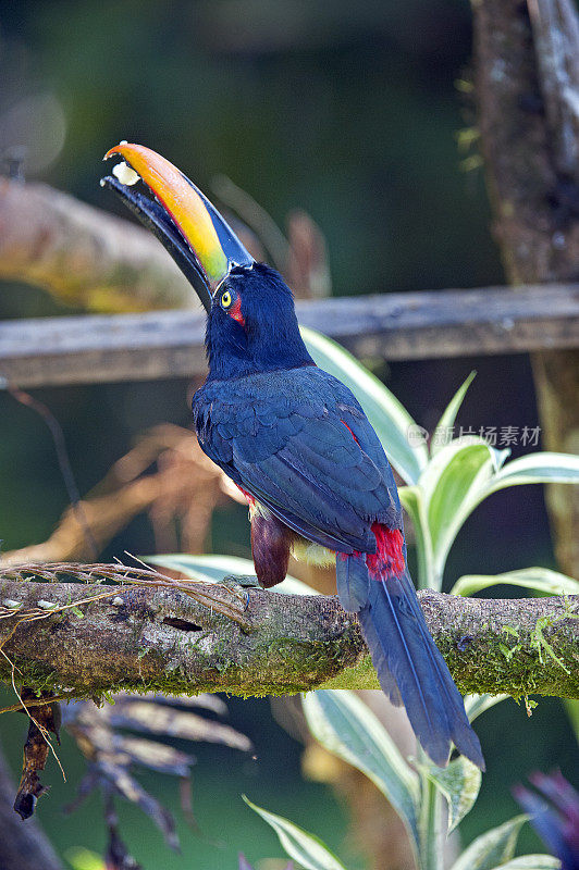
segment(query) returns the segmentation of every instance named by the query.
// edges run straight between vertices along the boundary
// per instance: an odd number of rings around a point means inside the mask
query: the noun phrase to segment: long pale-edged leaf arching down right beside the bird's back
[[[338,344],[305,326],[301,337],[320,369],[352,389],[398,474],[406,483],[416,483],[428,463],[428,448],[421,438],[409,439],[408,433],[418,433],[419,428],[408,411],[378,377]]]

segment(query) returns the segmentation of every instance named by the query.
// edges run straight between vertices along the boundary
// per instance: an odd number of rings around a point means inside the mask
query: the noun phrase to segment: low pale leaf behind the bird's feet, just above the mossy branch
[[[250,559],[238,556],[190,556],[185,552],[173,552],[163,556],[145,556],[145,562],[180,571],[190,580],[200,580],[204,583],[221,583],[226,576],[254,576],[256,569]],[[287,576],[283,583],[275,586],[275,592],[287,595],[318,595],[316,589],[301,583],[300,580]]]

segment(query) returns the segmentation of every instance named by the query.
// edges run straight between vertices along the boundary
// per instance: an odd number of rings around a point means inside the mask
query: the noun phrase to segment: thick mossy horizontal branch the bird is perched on
[[[104,568],[110,576],[123,576],[122,567]],[[73,579],[86,575],[76,566],[66,571]],[[38,691],[74,697],[118,689],[248,696],[323,685],[377,687],[357,620],[335,597],[197,583],[183,592],[184,585],[172,587],[162,575],[156,584],[155,572],[147,574],[149,588],[38,583],[34,571],[28,582],[13,576],[8,569],[0,573],[0,680],[5,682],[14,675]],[[428,591],[419,596],[461,692],[579,698],[579,596],[500,600]],[[95,600],[86,604],[88,598]],[[25,619],[26,613],[36,616]]]

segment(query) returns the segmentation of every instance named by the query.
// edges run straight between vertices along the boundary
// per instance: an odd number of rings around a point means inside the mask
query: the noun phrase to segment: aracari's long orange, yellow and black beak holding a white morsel
[[[106,176],[101,185],[114,190],[164,245],[209,312],[215,288],[233,266],[250,268],[254,258],[207,197],[164,157],[124,142],[104,159],[114,154],[131,169],[115,166],[114,177]],[[133,187],[138,178],[148,188],[145,194]]]

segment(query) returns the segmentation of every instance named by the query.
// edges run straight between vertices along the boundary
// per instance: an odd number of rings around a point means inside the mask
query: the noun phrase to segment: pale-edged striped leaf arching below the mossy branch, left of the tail
[[[367,705],[346,689],[318,689],[304,696],[304,712],[316,739],[380,788],[418,847],[419,779]]]

